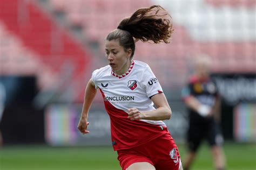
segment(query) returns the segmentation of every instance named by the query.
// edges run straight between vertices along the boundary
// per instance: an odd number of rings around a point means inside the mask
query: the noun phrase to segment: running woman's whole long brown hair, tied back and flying
[[[131,58],[135,51],[134,40],[153,43],[169,43],[173,29],[171,16],[160,5],[153,5],[150,8],[140,8],[131,17],[124,18],[118,25],[118,29],[111,31],[106,40],[119,39],[119,44],[125,51],[132,49]]]

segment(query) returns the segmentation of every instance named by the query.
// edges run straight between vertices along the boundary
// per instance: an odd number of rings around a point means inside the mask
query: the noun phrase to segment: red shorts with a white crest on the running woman
[[[149,162],[157,170],[178,170],[181,166],[178,147],[170,133],[144,145],[119,150],[117,153],[123,170],[136,162]]]

